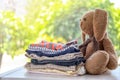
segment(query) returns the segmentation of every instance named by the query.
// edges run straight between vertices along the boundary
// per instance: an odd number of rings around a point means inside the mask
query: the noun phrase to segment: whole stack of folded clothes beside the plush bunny
[[[25,65],[30,72],[62,72],[83,75],[85,59],[77,47],[77,41],[66,44],[41,41],[30,44],[25,54],[31,59]]]

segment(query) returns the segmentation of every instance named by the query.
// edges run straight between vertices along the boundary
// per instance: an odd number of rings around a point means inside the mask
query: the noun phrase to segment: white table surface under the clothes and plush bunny
[[[68,76],[58,74],[29,73],[23,67],[0,75],[0,80],[120,80],[120,67],[102,75]]]

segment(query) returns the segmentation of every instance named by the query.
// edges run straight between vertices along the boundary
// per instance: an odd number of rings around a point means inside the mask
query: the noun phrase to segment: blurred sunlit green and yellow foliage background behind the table
[[[30,43],[81,43],[79,20],[96,8],[108,12],[107,32],[120,56],[119,0],[0,0],[0,73],[24,65]]]

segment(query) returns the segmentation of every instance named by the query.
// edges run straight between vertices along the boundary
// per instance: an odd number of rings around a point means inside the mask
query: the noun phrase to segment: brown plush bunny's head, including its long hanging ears
[[[83,41],[86,34],[89,37],[95,37],[97,41],[101,41],[106,32],[107,12],[102,9],[87,12],[81,19],[80,27],[82,29]]]

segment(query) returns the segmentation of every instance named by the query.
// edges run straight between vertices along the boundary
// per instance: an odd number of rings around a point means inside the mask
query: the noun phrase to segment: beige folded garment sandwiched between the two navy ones
[[[83,54],[81,52],[75,52],[72,54],[65,54],[65,55],[60,55],[60,56],[55,56],[55,57],[47,57],[47,56],[41,56],[39,57],[36,54],[25,54],[26,57],[30,59],[37,59],[37,60],[70,60],[74,59],[76,57],[83,57]]]

